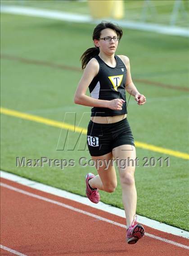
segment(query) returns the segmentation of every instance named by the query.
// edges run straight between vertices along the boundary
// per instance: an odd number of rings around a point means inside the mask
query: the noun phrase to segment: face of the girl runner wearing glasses
[[[117,33],[111,29],[111,28],[105,28],[101,31],[100,38],[104,37],[117,37]],[[118,46],[118,41],[115,41],[111,39],[111,41],[105,41],[103,39],[99,40],[94,40],[95,46],[99,47],[100,51],[103,51],[107,55],[112,55],[115,53],[117,46]]]

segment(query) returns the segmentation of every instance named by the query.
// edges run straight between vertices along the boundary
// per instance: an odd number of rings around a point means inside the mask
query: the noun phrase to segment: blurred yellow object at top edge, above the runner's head
[[[90,15],[93,18],[116,18],[124,16],[123,0],[88,0]]]

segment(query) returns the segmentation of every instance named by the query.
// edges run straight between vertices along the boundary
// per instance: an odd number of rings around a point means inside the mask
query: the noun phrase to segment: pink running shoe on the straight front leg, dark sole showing
[[[127,229],[126,241],[129,244],[136,243],[144,236],[144,227],[136,222],[137,216],[134,215],[131,226]]]

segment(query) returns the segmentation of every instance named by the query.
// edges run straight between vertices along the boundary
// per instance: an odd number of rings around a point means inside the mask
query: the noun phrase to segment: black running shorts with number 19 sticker
[[[121,145],[135,146],[134,138],[127,118],[117,123],[94,123],[90,120],[87,129],[87,146],[91,156],[100,156],[112,152]]]

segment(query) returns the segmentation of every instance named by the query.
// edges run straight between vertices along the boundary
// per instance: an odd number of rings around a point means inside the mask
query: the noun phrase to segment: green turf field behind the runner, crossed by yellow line
[[[89,24],[1,14],[1,107],[59,122],[67,112],[76,112],[76,123],[88,112],[80,123],[87,128],[90,107],[73,103],[82,72],[72,68],[80,68],[81,54],[92,46],[93,28]],[[149,81],[148,84],[135,82],[147,97],[146,105],[138,106],[133,98],[128,105],[135,140],[189,154],[189,91],[177,88],[189,88],[189,39],[124,29],[117,54],[130,57],[134,82]],[[155,82],[162,87],[154,85]],[[74,118],[74,114],[68,114],[64,121],[73,124]],[[90,159],[87,150],[77,147],[73,151],[56,150],[57,146],[62,147],[66,133],[65,129],[61,133],[61,128],[2,114],[1,169],[85,196],[85,174],[89,171],[96,174],[96,170],[78,163],[81,156]],[[70,132],[70,146],[78,135]],[[85,140],[79,149],[84,144]],[[63,170],[48,166],[18,168],[17,156],[74,159],[76,166]],[[137,156],[137,213],[189,230],[188,160],[140,147],[137,147]],[[159,164],[143,167],[144,157],[157,160],[161,156],[170,157],[170,167],[166,167],[165,162],[163,167]],[[103,202],[123,208],[120,183],[116,192],[100,194]]]

